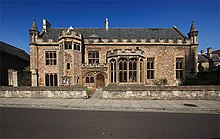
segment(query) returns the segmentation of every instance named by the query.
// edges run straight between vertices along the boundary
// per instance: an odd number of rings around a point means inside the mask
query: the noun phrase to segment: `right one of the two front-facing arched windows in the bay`
[[[137,82],[137,60],[129,60],[129,82]]]

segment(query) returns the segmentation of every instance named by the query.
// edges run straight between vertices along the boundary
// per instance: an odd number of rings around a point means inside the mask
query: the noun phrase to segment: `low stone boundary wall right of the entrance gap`
[[[220,86],[109,85],[103,89],[102,98],[220,100]]]

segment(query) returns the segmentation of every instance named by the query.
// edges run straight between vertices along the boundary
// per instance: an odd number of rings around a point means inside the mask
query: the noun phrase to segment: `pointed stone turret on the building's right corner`
[[[198,31],[195,28],[194,21],[191,22],[190,32],[188,33],[188,38],[191,43],[198,44]]]

